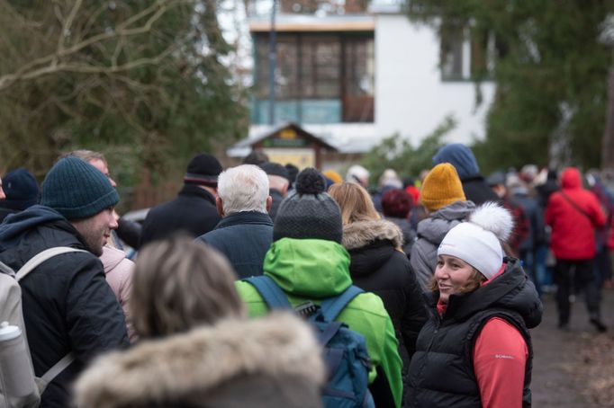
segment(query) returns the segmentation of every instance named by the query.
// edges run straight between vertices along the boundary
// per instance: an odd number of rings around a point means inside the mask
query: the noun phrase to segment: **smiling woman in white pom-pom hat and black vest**
[[[528,329],[542,304],[519,261],[504,257],[512,226],[510,212],[487,202],[439,245],[432,314],[411,359],[411,406],[530,406]]]

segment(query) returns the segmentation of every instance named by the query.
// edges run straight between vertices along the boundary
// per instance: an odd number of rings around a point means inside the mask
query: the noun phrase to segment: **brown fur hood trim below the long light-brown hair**
[[[357,221],[343,227],[342,244],[348,251],[377,240],[392,241],[396,248],[400,248],[403,244],[401,228],[385,219]]]

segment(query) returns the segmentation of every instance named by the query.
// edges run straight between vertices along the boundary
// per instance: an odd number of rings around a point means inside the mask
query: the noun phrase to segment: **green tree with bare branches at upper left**
[[[0,170],[42,174],[76,147],[164,170],[244,134],[217,10],[215,0],[0,0]]]

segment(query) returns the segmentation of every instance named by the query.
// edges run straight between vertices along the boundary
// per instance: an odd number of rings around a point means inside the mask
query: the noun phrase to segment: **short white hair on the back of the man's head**
[[[254,164],[230,167],[218,177],[218,195],[226,216],[240,211],[266,214],[268,177]]]

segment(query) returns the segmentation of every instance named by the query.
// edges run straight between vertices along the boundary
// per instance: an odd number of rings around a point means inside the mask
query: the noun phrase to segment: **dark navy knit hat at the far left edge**
[[[21,211],[39,202],[39,184],[26,169],[6,173],[2,181],[6,199],[0,207]]]

